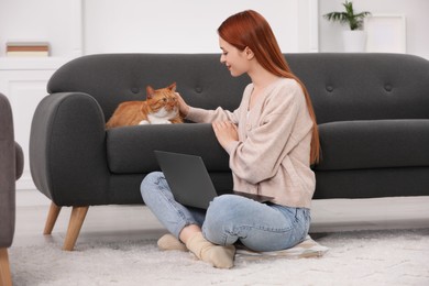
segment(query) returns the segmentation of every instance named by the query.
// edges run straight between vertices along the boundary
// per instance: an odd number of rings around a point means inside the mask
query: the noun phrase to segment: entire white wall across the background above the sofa
[[[218,53],[228,15],[260,11],[284,52],[342,52],[322,14],[343,0],[0,0],[0,56],[10,40],[46,40],[54,57],[110,52]],[[358,11],[406,16],[407,53],[429,58],[428,0],[353,0]],[[317,29],[319,26],[319,29]],[[319,38],[319,41],[317,40]]]

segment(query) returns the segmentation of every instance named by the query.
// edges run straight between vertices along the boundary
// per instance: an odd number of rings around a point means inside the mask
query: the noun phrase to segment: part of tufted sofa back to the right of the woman
[[[429,61],[404,54],[287,56],[306,84],[318,123],[429,119]]]

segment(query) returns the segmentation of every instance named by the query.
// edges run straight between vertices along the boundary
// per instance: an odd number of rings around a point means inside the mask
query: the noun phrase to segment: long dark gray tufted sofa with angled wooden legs
[[[306,84],[319,123],[316,199],[429,195],[428,61],[399,54],[285,56]],[[173,81],[191,106],[233,110],[249,78],[232,78],[216,54],[90,55],[51,78],[50,95],[33,118],[30,164],[35,185],[53,201],[45,233],[62,206],[76,209],[64,249],[73,249],[89,206],[143,202],[140,183],[158,169],[155,148],[201,155],[215,185],[231,187],[228,155],[209,124],[105,130],[118,103],[144,99],[147,85]]]

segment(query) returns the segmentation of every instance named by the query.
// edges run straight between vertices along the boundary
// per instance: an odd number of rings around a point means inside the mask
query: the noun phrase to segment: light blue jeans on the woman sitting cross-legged
[[[254,251],[278,251],[301,242],[308,234],[310,210],[274,204],[261,204],[237,195],[215,198],[206,210],[175,201],[161,172],[142,182],[144,202],[176,238],[189,226],[201,227],[204,237],[219,245],[241,242]]]

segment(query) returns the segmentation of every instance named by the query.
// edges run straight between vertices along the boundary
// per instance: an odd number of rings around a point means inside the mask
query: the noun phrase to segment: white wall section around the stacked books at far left
[[[0,0],[0,56],[9,41],[46,41],[52,56],[81,55],[81,0]]]

